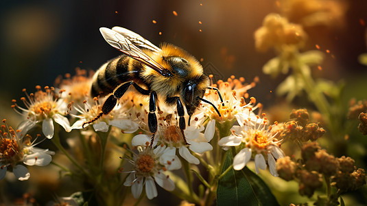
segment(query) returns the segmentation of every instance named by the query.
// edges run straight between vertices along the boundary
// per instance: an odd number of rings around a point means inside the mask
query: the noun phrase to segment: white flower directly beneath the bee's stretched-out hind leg
[[[95,98],[94,101],[94,105],[90,105],[88,102],[84,101],[84,108],[75,106],[75,110],[78,111],[80,115],[72,115],[73,117],[78,117],[79,120],[71,126],[71,129],[83,128],[85,122],[91,121],[101,113],[102,105],[99,104],[97,98]],[[139,124],[132,120],[129,111],[130,110],[127,110],[124,104],[115,106],[114,110],[108,115],[103,115],[93,122],[94,130],[106,133],[110,126],[115,126],[120,128],[123,133],[134,133],[138,130]],[[87,126],[87,124],[84,124],[84,127],[85,126]]]

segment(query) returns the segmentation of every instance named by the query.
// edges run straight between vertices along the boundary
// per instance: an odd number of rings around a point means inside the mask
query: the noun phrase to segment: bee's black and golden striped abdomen
[[[107,95],[123,82],[130,81],[134,78],[134,73],[137,71],[129,71],[130,57],[126,55],[118,56],[106,62],[102,67],[99,67],[93,76],[93,84],[91,95]]]

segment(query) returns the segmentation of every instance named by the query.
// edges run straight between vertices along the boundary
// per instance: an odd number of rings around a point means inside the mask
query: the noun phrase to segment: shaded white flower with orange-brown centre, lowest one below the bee
[[[158,192],[154,181],[165,190],[173,191],[174,182],[164,174],[167,168],[160,163],[163,152],[159,148],[153,150],[149,146],[146,146],[145,149],[139,146],[138,150],[139,155],[134,154],[133,160],[130,161],[133,170],[123,183],[125,186],[131,186],[132,196],[139,198],[145,185],[147,198],[151,200],[156,197]],[[178,157],[174,157],[173,161],[180,162]]]

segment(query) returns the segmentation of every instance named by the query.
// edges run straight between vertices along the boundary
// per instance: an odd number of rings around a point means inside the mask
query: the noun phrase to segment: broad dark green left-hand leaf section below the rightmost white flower
[[[233,157],[227,152],[222,172],[232,165]],[[218,182],[217,205],[259,205],[259,201],[244,171],[230,170]]]

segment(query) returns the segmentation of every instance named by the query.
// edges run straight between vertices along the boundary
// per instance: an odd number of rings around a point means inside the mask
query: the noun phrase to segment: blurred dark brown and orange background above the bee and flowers
[[[327,0],[324,0],[327,1]],[[110,47],[99,27],[119,25],[141,34],[155,45],[167,42],[186,49],[202,62],[206,74],[226,79],[231,75],[251,82],[259,76],[250,95],[274,104],[274,91],[282,78],[265,76],[261,68],[274,52],[254,48],[254,31],[269,13],[286,14],[300,23],[298,13],[282,10],[285,1],[8,1],[0,3],[0,117],[19,122],[11,100],[22,89],[53,86],[55,79],[75,68],[97,70],[121,54]],[[304,25],[308,34],[304,50],[324,52],[322,69],[315,75],[344,79],[345,95],[366,98],[367,68],[359,64],[366,53],[367,1],[327,1],[328,22]],[[174,12],[175,11],[175,12]],[[175,13],[175,14],[174,14]],[[154,22],[153,22],[154,21]],[[316,45],[318,45],[316,47]],[[329,52],[327,52],[327,50]]]

